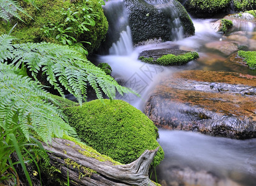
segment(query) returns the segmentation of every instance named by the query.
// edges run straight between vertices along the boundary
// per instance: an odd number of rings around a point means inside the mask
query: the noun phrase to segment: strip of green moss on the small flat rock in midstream
[[[189,61],[195,60],[196,58],[199,58],[198,53],[195,51],[191,51],[177,56],[172,54],[163,55],[161,58],[158,58],[157,60],[153,60],[153,58],[145,58],[144,56],[140,56],[139,60],[142,60],[145,63],[153,63],[167,66],[186,64]]]

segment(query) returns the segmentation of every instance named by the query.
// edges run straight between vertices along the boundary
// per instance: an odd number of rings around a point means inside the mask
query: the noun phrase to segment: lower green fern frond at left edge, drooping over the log
[[[75,135],[75,130],[63,117],[62,111],[45,100],[52,100],[42,86],[27,76],[19,75],[15,66],[0,63],[0,127],[5,131],[17,126],[30,139],[34,130],[47,143],[53,135]]]

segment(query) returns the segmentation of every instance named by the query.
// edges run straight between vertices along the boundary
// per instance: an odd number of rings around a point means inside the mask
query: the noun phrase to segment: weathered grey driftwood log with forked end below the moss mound
[[[130,164],[114,165],[111,161],[99,161],[94,157],[81,154],[81,151],[86,150],[66,139],[55,138],[50,146],[46,144],[43,146],[47,151],[51,151],[49,153],[50,160],[52,164],[59,165],[58,169],[62,172],[63,179],[67,179],[68,172],[70,185],[155,185],[149,179],[148,173],[150,163],[158,148],[151,151],[146,150]],[[71,161],[95,170],[97,173],[88,176],[82,169],[66,165],[65,159],[71,159]],[[82,177],[81,174],[86,176]]]

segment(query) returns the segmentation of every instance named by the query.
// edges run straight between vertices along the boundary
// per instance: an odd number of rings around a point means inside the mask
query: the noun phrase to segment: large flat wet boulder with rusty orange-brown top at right
[[[160,128],[256,138],[256,76],[183,71],[155,87],[145,114]]]

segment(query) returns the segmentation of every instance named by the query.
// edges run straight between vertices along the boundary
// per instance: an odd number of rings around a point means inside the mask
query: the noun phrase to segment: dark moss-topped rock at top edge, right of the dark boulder
[[[188,0],[186,10],[196,17],[209,17],[229,7],[230,0]]]

